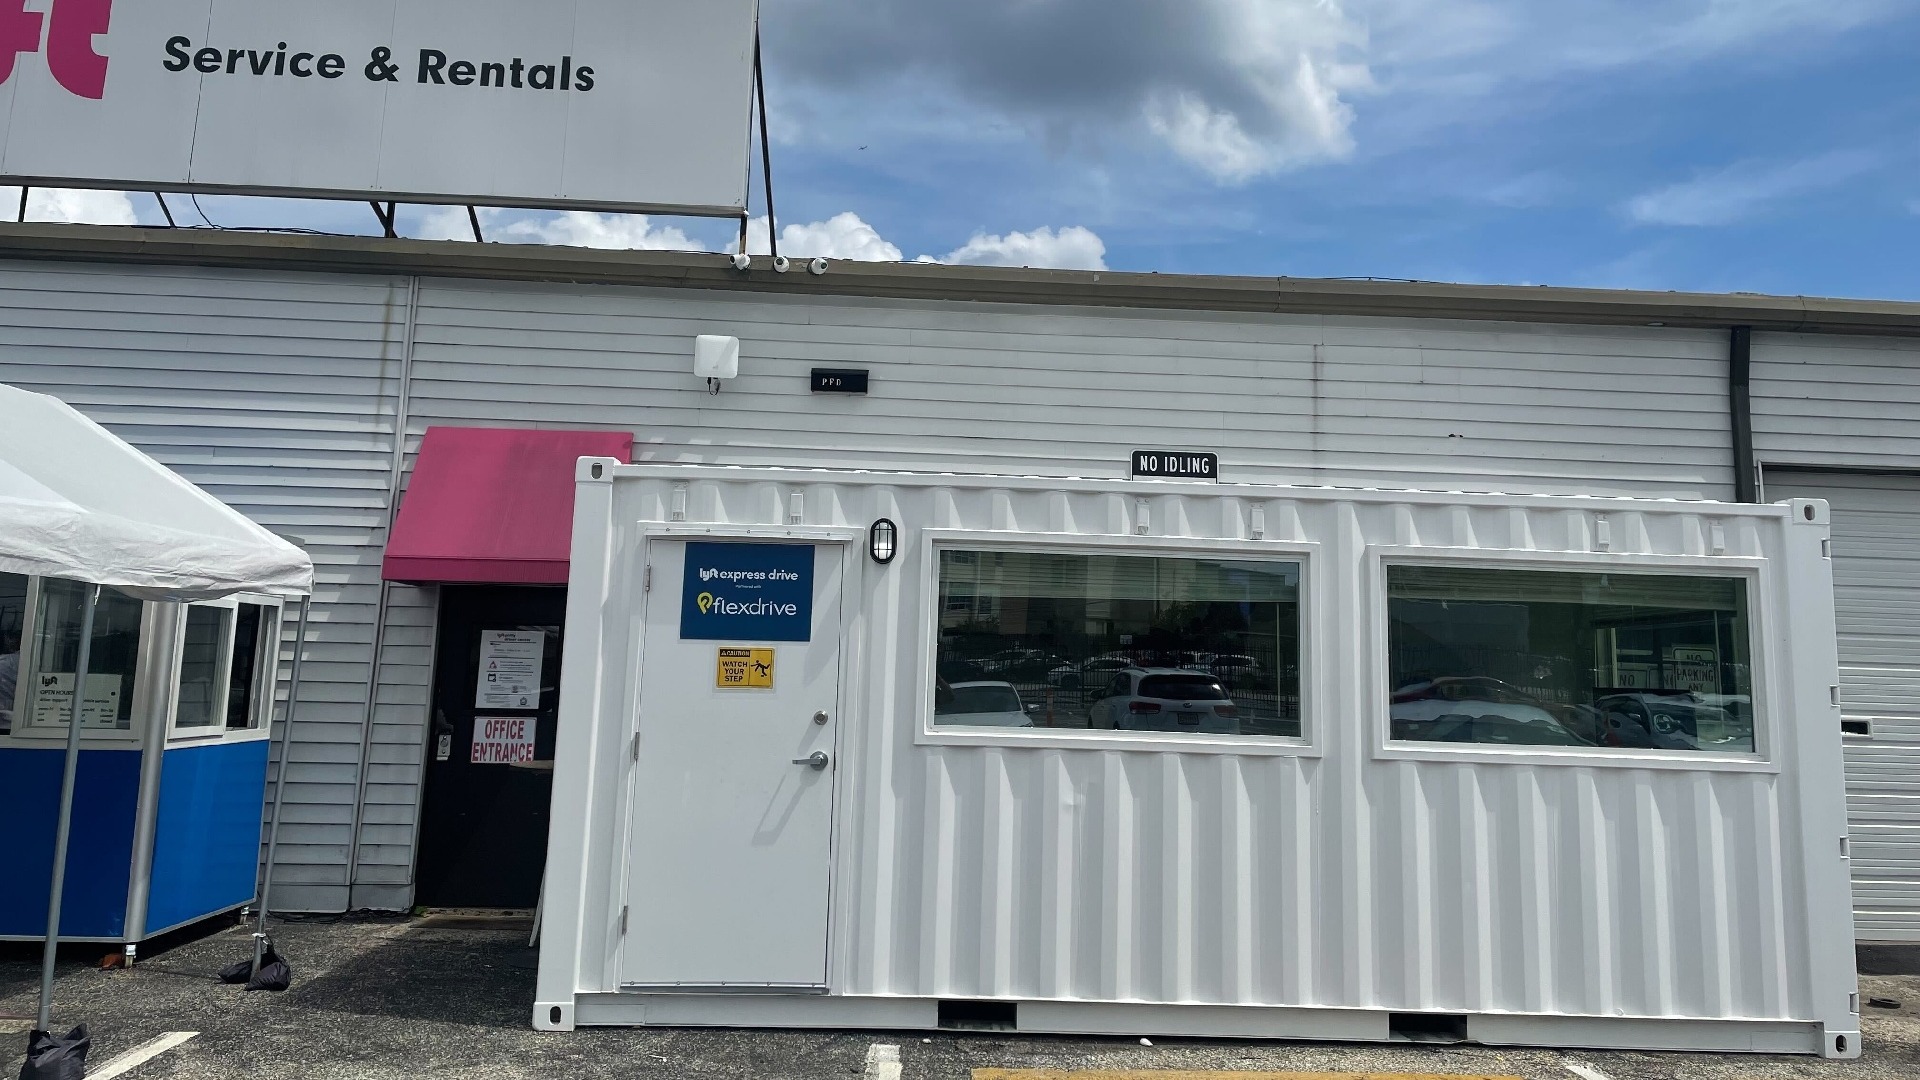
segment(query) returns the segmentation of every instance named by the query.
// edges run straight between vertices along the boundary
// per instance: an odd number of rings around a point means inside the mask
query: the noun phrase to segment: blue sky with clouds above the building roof
[[[762,19],[793,254],[1920,300],[1910,0],[764,0]],[[159,219],[100,200],[35,217]],[[376,229],[361,204],[200,202],[221,225]],[[409,208],[401,231],[463,236],[465,211]]]

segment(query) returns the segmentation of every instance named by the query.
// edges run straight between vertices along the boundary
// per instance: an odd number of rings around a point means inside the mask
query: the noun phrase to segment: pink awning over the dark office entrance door
[[[566,584],[574,463],[632,455],[626,430],[426,429],[382,577]]]

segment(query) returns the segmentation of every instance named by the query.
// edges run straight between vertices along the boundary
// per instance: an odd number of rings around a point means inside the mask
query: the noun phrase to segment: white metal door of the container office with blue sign
[[[826,988],[843,550],[649,544],[622,986]]]

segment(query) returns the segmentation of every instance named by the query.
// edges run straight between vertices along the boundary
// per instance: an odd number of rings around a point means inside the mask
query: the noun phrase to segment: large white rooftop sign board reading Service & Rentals
[[[758,0],[36,8],[8,183],[745,213]]]

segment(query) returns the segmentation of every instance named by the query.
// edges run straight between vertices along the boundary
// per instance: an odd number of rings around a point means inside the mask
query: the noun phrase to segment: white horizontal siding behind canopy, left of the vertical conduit
[[[0,380],[71,402],[313,557],[280,909],[349,899],[405,309],[405,279],[0,265]]]

